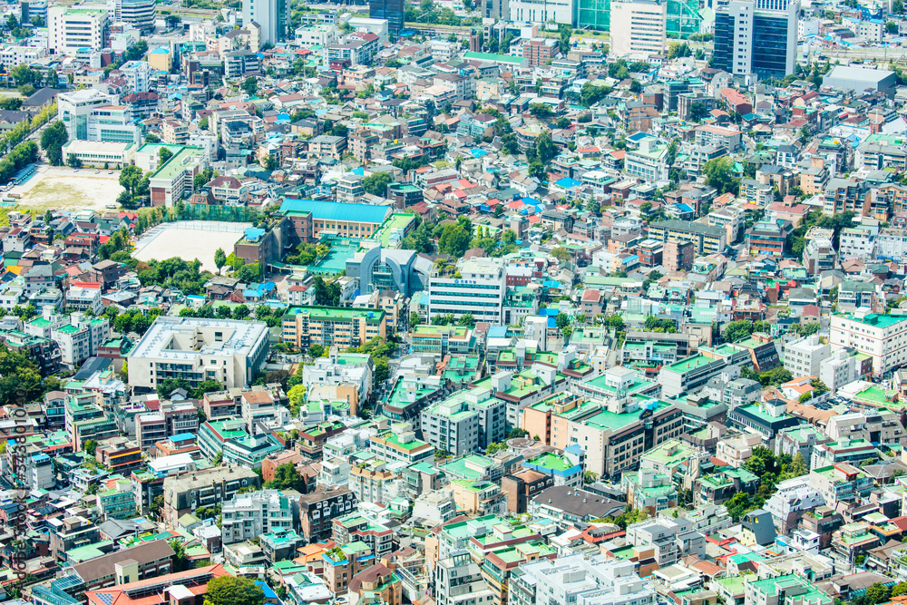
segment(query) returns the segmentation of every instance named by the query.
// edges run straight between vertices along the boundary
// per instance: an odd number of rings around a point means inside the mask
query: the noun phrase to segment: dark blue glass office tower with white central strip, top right
[[[799,0],[731,0],[715,14],[714,67],[735,75],[794,73]]]

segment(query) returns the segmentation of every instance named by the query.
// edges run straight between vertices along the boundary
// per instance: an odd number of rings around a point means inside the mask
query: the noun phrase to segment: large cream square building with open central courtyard
[[[155,388],[182,378],[234,388],[249,385],[267,358],[264,322],[161,316],[129,354],[129,384]]]

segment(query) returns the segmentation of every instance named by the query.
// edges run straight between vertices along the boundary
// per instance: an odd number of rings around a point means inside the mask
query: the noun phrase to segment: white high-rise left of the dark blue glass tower
[[[661,54],[665,50],[668,3],[629,0],[611,3],[611,54]]]

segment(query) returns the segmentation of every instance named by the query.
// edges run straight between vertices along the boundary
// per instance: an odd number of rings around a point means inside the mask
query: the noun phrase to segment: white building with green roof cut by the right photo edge
[[[883,376],[907,363],[907,316],[879,313],[833,315],[832,350],[852,346],[873,357],[873,375]]]

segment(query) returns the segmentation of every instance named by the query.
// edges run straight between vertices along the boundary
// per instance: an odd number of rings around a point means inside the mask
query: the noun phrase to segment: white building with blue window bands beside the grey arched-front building
[[[471,313],[476,321],[493,326],[503,321],[507,274],[503,259],[460,260],[456,268],[433,268],[428,279],[428,314]]]

